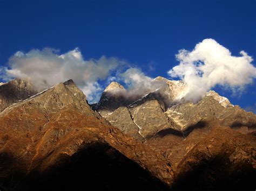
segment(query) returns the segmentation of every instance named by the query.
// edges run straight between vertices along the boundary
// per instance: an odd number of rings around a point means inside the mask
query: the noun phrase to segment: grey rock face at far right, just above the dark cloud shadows
[[[179,131],[184,131],[199,121],[215,119],[223,126],[237,130],[244,128],[242,131],[245,132],[256,129],[256,116],[252,112],[246,112],[238,105],[233,106],[228,100],[225,101],[224,107],[224,102],[218,101],[214,96],[205,96],[197,104],[181,103],[168,108],[165,113],[174,121],[174,129]]]

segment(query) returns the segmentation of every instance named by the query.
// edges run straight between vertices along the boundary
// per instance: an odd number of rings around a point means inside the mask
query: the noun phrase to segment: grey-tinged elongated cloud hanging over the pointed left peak
[[[97,102],[102,92],[98,80],[105,80],[114,69],[125,64],[117,58],[102,56],[98,60],[84,60],[78,48],[65,54],[55,49],[32,49],[17,52],[9,60],[10,69],[4,68],[4,79],[21,77],[29,79],[39,90],[59,82],[73,79],[89,102]]]

